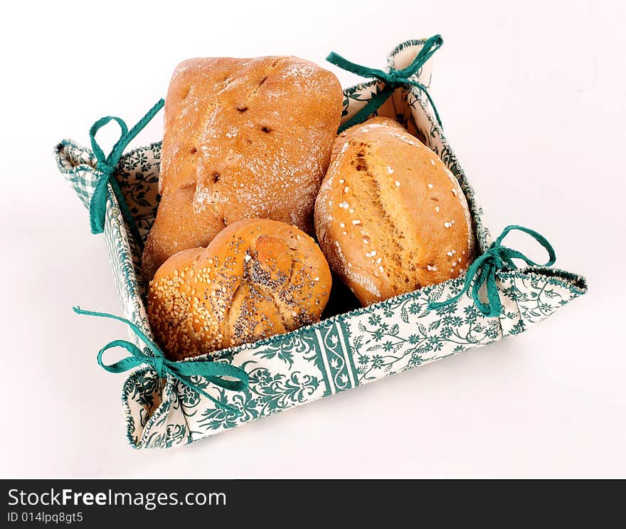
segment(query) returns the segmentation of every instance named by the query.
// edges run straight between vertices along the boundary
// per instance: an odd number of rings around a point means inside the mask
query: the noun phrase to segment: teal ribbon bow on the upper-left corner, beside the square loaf
[[[93,154],[95,154],[95,157],[97,159],[96,169],[102,173],[102,176],[100,176],[100,178],[98,178],[96,182],[95,189],[89,203],[89,221],[91,225],[91,233],[102,233],[105,230],[105,213],[107,210],[107,184],[110,183],[113,189],[113,193],[115,193],[115,196],[117,198],[117,203],[120,204],[120,210],[122,210],[122,215],[124,215],[124,218],[128,223],[133,237],[135,238],[135,240],[137,240],[137,244],[139,244],[139,247],[143,249],[144,242],[141,235],[139,235],[139,228],[137,228],[137,223],[135,223],[134,217],[132,216],[126,199],[124,198],[124,194],[122,193],[122,189],[120,188],[120,183],[113,175],[115,174],[117,163],[120,161],[124,149],[126,149],[130,141],[135,136],[137,136],[137,134],[142,131],[142,129],[148,124],[148,122],[157,114],[157,112],[159,112],[164,103],[164,100],[159,100],[159,102],[157,102],[157,105],[154,105],[154,107],[149,109],[148,113],[144,117],[142,117],[142,119],[139,119],[139,122],[130,130],[128,130],[128,127],[126,126],[126,123],[124,123],[123,119],[113,116],[107,116],[98,119],[97,122],[95,122],[89,129],[91,148],[93,150]],[[110,154],[106,156],[104,151],[102,151],[102,149],[100,148],[100,145],[98,145],[97,141],[95,141],[95,135],[102,127],[112,121],[115,121],[118,125],[120,125],[122,133],[120,134],[120,139],[118,139],[117,143],[113,146]]]

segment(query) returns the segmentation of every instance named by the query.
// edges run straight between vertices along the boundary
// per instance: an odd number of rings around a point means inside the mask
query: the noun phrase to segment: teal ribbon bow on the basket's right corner
[[[539,242],[548,252],[548,256],[550,257],[548,262],[546,262],[545,265],[538,265],[523,253],[502,246],[502,240],[504,240],[506,234],[513,230],[528,233],[534,240]],[[500,236],[489,246],[489,250],[477,257],[467,269],[465,284],[461,292],[446,301],[440,301],[438,303],[431,302],[429,304],[430,309],[439,309],[442,306],[455,303],[461,299],[461,296],[470,289],[470,284],[474,282],[474,286],[472,287],[472,299],[474,299],[474,304],[476,304],[482,314],[487,317],[499,316],[502,311],[502,301],[500,301],[498,287],[496,285],[496,272],[500,269],[517,269],[517,266],[513,262],[514,259],[521,259],[526,262],[527,265],[533,267],[551,267],[556,262],[556,254],[552,245],[546,240],[546,237],[543,237],[543,235],[537,233],[535,230],[517,225],[506,226]],[[478,295],[482,284],[487,286],[487,303],[484,303]]]

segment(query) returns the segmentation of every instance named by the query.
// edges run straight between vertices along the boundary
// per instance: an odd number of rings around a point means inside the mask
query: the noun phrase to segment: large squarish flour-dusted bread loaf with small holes
[[[334,74],[295,57],[181,63],[165,102],[163,201],[144,250],[144,277],[243,218],[313,233],[342,101]]]

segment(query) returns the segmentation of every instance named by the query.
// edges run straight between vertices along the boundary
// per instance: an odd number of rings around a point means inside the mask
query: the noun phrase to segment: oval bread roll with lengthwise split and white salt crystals
[[[315,229],[331,269],[364,306],[457,277],[474,257],[457,179],[386,118],[337,137]]]

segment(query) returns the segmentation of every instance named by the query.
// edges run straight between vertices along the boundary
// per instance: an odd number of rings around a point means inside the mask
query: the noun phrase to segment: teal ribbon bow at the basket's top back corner
[[[433,98],[430,97],[428,90],[426,87],[419,81],[411,79],[412,75],[418,72],[420,68],[424,65],[424,63],[433,56],[433,53],[441,48],[443,44],[443,38],[440,35],[435,35],[428,38],[422,49],[418,53],[418,55],[413,59],[413,62],[410,63],[406,68],[402,70],[396,70],[394,68],[390,68],[388,72],[383,70],[377,70],[376,68],[368,68],[367,66],[362,66],[359,64],[351,63],[349,60],[344,59],[341,55],[337,55],[334,51],[329,53],[326,58],[329,63],[332,63],[336,66],[339,66],[342,70],[347,70],[351,73],[356,73],[356,75],[361,75],[364,78],[373,78],[383,81],[385,83],[385,87],[381,92],[371,98],[367,105],[365,105],[359,112],[356,112],[353,117],[348,119],[344,124],[341,124],[338,132],[343,132],[345,129],[349,129],[353,125],[364,122],[368,116],[376,112],[381,105],[388,100],[389,96],[393,93],[393,90],[396,90],[398,87],[406,87],[406,86],[414,86],[422,90],[426,97],[428,97],[428,101],[430,105],[433,107],[433,112],[435,112],[435,118],[437,118],[437,122],[441,125],[441,119],[439,117],[439,112],[437,112],[437,107],[435,107],[435,102]]]

